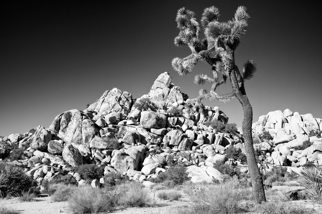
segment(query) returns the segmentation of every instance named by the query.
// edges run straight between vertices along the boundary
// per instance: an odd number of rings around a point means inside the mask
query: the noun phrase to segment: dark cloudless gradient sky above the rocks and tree
[[[206,64],[180,77],[172,58],[189,55],[177,48],[174,21],[182,6],[199,20],[216,6],[220,21],[244,5],[251,15],[248,32],[235,52],[236,64],[258,64],[245,84],[254,119],[286,108],[322,117],[321,15],[316,1],[8,1],[1,3],[0,135],[49,127],[56,115],[86,108],[104,91],[118,87],[134,98],[147,94],[165,71],[190,98],[197,96],[196,74],[211,74]],[[208,85],[207,88],[210,86]],[[228,82],[219,93],[231,91]],[[230,122],[242,124],[235,99],[219,106]]]

